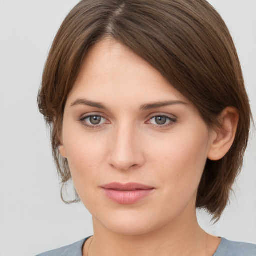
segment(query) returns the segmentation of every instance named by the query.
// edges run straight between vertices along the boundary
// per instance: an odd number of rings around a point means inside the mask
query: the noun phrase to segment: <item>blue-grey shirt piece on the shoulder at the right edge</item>
[[[256,256],[256,244],[222,238],[213,256]]]

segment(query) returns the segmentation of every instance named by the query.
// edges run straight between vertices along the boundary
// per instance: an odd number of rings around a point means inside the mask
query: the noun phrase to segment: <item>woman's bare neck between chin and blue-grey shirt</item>
[[[181,216],[179,216],[180,218]],[[89,256],[213,255],[220,240],[209,236],[198,225],[196,214],[190,219],[176,219],[158,229],[141,234],[113,232],[93,219],[94,236]],[[83,255],[87,255],[88,244]]]

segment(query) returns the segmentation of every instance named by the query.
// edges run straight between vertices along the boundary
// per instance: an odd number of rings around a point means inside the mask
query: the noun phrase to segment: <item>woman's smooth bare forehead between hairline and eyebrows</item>
[[[90,48],[69,98],[91,97],[115,102],[188,99],[179,93],[148,62],[127,46],[106,38]],[[143,102],[139,102],[143,103]]]

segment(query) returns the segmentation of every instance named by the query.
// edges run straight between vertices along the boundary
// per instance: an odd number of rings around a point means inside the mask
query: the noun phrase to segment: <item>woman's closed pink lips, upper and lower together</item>
[[[104,194],[114,202],[120,204],[132,204],[149,195],[154,187],[140,183],[112,182],[102,185]]]

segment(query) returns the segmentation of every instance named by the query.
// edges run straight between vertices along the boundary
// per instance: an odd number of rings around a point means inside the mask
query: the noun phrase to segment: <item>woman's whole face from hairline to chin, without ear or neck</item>
[[[59,149],[94,226],[142,234],[194,218],[211,143],[197,108],[146,61],[113,39],[90,49]]]

